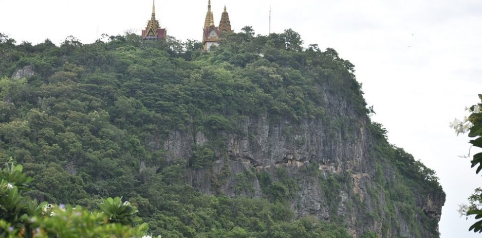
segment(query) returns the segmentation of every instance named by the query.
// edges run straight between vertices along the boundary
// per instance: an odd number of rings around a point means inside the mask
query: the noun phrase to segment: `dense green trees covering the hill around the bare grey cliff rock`
[[[39,201],[93,208],[102,198],[123,196],[152,234],[167,238],[349,237],[338,224],[295,219],[288,205],[296,190],[292,178],[238,174],[239,189],[249,176],[266,181],[262,199],[207,196],[186,184],[186,169],[209,167],[225,153],[219,132],[238,132],[248,116],[323,119],[351,136],[350,125],[327,116],[323,95],[344,98],[366,117],[354,66],[333,49],[303,49],[302,43],[292,30],[255,36],[250,27],[225,35],[209,53],[197,41],[142,41],[135,34],[93,44],[68,37],[60,46],[49,40],[17,45],[0,35],[0,162],[11,157],[23,164],[34,178],[25,195]],[[15,77],[19,69],[35,73]],[[175,161],[152,145],[152,138],[189,128],[217,139]],[[389,197],[404,206],[413,197],[409,186],[440,189],[432,170],[386,142],[380,125],[371,124],[371,131],[379,157],[394,163],[405,181],[380,178],[379,189],[395,193]],[[323,181],[337,185],[334,178]],[[336,198],[336,190],[330,196]],[[419,212],[406,206],[408,216]]]

